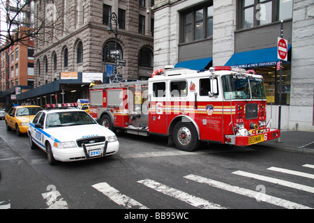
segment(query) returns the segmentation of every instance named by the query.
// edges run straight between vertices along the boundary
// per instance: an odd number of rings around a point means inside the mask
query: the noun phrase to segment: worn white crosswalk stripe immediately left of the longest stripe
[[[187,194],[186,192],[182,192],[181,190],[174,189],[172,187],[168,187],[167,185],[163,185],[154,180],[145,179],[139,180],[138,183],[142,183],[143,185],[150,187],[151,189],[157,190],[158,192],[162,192],[163,194],[167,194],[170,197],[174,197],[179,199],[180,201],[184,201],[189,203],[192,206],[203,209],[225,209],[225,207],[220,206],[216,203],[211,203],[202,198],[195,197],[191,194]]]

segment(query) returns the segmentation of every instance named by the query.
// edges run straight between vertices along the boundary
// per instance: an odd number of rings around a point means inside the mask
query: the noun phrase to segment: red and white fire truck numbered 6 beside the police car
[[[215,67],[158,69],[147,81],[91,86],[91,115],[110,130],[167,136],[183,151],[200,141],[249,146],[276,139],[261,75]]]

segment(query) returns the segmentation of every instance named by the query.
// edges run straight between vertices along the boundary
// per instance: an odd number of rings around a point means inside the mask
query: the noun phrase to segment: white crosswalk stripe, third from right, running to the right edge
[[[269,183],[276,183],[278,185],[282,185],[282,186],[285,186],[285,187],[291,187],[291,188],[294,188],[294,189],[297,189],[297,190],[303,190],[303,191],[310,192],[310,193],[314,194],[314,187],[301,185],[299,183],[292,183],[290,181],[280,180],[280,179],[277,179],[277,178],[271,178],[269,176],[262,176],[262,175],[258,175],[258,174],[251,174],[251,173],[248,173],[246,171],[234,171],[234,172],[232,172],[232,174],[237,174],[239,176],[246,176],[246,177],[254,178],[254,179],[257,179],[257,180],[263,180],[263,181],[267,181]]]

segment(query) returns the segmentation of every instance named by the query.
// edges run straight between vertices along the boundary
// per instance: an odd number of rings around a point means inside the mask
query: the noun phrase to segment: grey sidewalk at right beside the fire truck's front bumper
[[[276,139],[264,141],[260,145],[314,155],[314,132],[281,130],[281,141],[283,142],[276,142]]]

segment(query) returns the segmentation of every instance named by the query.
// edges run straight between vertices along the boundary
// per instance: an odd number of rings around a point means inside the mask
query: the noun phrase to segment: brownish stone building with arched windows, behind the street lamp
[[[124,79],[147,79],[153,72],[154,32],[151,30],[154,29],[154,13],[151,12],[151,4],[154,1],[34,2],[35,27],[43,23],[45,27],[35,39],[34,88],[58,81],[63,72],[104,73],[104,77],[109,77],[107,64],[113,66],[114,60],[108,57],[108,52],[114,49],[115,43],[114,31],[107,31],[111,13],[117,15],[117,48],[121,50],[119,59],[126,61],[118,72]],[[116,22],[111,22],[114,30]],[[40,95],[29,93],[19,99],[50,94],[40,91]],[[87,96],[88,89],[77,95]]]

